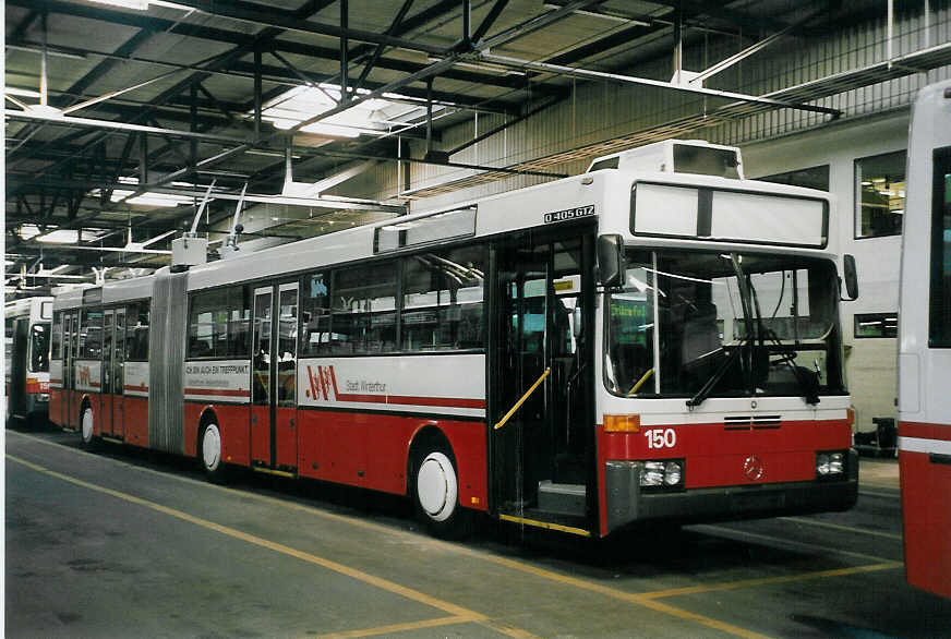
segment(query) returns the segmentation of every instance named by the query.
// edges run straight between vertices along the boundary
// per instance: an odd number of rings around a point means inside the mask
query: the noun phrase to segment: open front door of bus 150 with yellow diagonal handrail
[[[503,519],[587,534],[595,525],[593,232],[526,233],[496,244],[492,264],[495,507]]]

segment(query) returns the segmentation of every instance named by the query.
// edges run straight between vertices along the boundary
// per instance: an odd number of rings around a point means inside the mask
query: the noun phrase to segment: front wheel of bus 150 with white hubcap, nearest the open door
[[[472,514],[459,503],[459,473],[448,444],[430,441],[417,447],[410,482],[417,519],[441,539],[471,531]]]

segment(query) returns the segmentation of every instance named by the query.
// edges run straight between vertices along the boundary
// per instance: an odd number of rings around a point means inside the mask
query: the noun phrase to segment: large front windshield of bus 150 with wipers
[[[607,296],[604,377],[619,396],[845,393],[839,284],[829,260],[627,251]]]

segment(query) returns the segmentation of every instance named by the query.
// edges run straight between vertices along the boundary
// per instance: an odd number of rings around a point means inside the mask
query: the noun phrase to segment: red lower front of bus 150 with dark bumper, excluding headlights
[[[850,453],[835,481],[817,480],[817,451],[850,450],[845,420],[747,424],[665,424],[637,432],[597,427],[601,534],[650,519],[744,519],[842,510],[857,497],[857,460]],[[641,493],[643,461],[683,461],[683,483]],[[609,498],[610,495],[610,498]]]

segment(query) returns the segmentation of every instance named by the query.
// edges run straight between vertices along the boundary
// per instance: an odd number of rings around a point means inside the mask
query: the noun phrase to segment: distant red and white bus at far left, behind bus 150
[[[8,421],[46,423],[51,322],[51,297],[23,298],[3,305]]]

